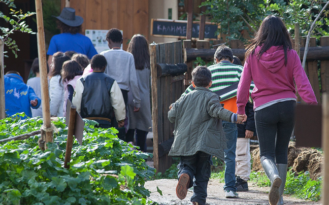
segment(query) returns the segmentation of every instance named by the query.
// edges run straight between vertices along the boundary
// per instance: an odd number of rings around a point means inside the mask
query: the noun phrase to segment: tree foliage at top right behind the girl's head
[[[299,23],[302,35],[307,35],[311,23],[322,9],[324,2],[326,1],[207,0],[201,6],[207,6],[208,10],[205,13],[211,15],[213,22],[220,23],[218,33],[228,35],[227,39],[243,39],[244,30],[252,35],[262,19],[271,14],[279,16],[290,33],[293,33],[294,24]],[[321,19],[316,22],[315,36],[328,35],[327,15],[328,11],[325,11]]]

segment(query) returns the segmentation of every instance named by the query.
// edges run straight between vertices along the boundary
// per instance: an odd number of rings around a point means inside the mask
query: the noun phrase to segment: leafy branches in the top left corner
[[[4,3],[10,8],[10,16],[4,15],[4,13],[0,11],[0,18],[4,19],[9,25],[9,27],[0,26],[0,30],[2,31],[0,40],[4,41],[5,45],[8,46],[8,48],[14,53],[15,58],[17,58],[17,51],[19,51],[18,46],[16,45],[16,41],[9,36],[15,31],[34,33],[32,32],[32,29],[28,28],[24,19],[34,15],[35,12],[27,12],[23,14],[22,10],[14,10],[14,8],[16,8],[14,0],[2,0],[0,3]]]

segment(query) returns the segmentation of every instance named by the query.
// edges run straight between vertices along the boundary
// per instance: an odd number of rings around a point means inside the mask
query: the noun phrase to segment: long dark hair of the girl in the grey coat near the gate
[[[150,52],[144,36],[135,34],[129,42],[127,51],[134,55],[136,69],[143,70],[144,67],[150,67]]]

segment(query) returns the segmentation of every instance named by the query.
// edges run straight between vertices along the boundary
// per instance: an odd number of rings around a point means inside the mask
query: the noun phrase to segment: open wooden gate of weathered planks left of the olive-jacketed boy
[[[153,123],[153,161],[157,172],[164,173],[172,164],[168,156],[174,139],[174,124],[168,120],[169,106],[174,103],[184,89],[184,75],[163,74],[157,63],[183,63],[181,41],[151,44],[151,87]]]

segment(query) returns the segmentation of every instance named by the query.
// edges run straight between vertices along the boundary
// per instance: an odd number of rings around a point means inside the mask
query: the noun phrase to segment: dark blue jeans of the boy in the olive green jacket
[[[193,186],[191,201],[198,202],[200,205],[206,204],[207,186],[212,164],[211,155],[197,152],[192,156],[181,156],[177,166],[179,169],[178,180],[182,174],[189,175],[190,184],[188,187]]]

